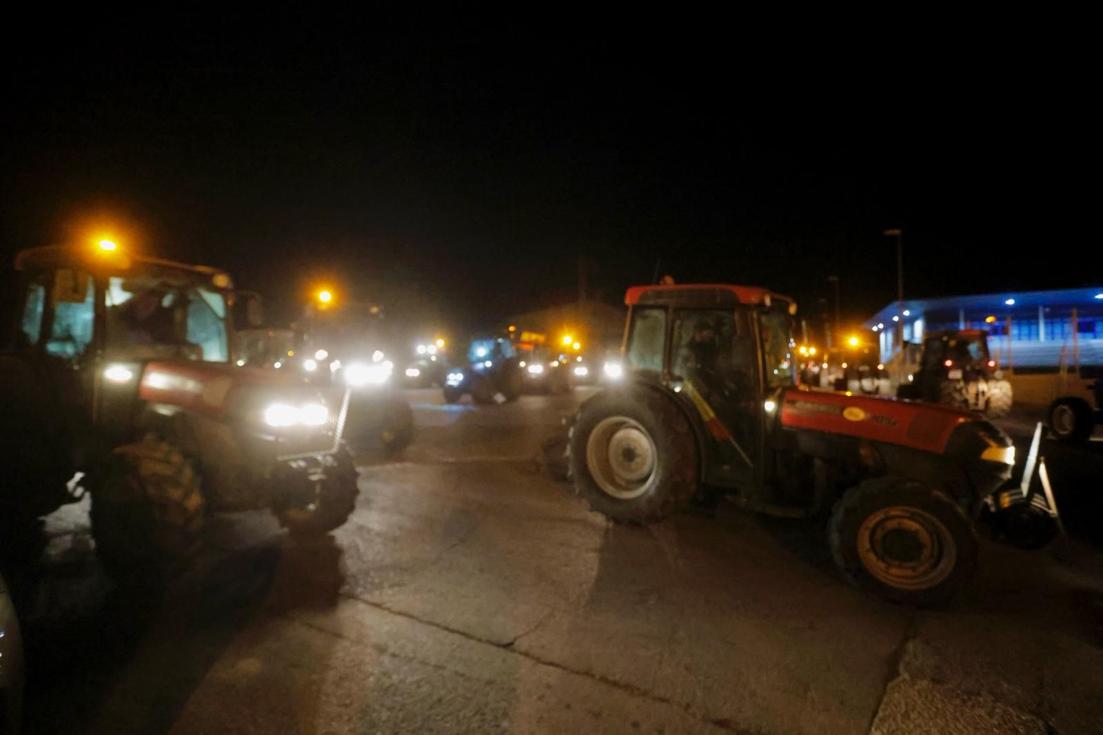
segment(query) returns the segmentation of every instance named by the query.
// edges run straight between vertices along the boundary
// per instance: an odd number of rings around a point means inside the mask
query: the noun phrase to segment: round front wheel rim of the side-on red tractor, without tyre
[[[957,562],[957,543],[938,518],[907,506],[871,514],[858,529],[858,558],[874,577],[898,590],[929,590]]]

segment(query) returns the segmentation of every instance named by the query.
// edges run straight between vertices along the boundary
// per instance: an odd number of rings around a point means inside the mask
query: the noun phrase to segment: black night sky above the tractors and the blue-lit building
[[[110,215],[282,315],[325,277],[416,284],[464,327],[572,298],[580,252],[612,303],[661,258],[805,311],[839,273],[857,317],[895,295],[897,226],[912,296],[1101,278],[1083,67],[1037,39],[274,15],[14,41],[4,259]]]

